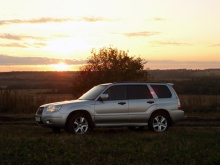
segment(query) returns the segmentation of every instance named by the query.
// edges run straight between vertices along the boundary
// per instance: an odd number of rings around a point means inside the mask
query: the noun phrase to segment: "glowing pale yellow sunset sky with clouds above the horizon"
[[[0,0],[0,72],[77,70],[112,45],[150,69],[220,68],[220,0]]]

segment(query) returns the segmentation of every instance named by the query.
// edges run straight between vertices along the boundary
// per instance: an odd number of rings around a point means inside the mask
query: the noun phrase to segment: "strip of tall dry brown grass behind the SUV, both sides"
[[[45,103],[74,99],[71,94],[45,94],[48,89],[0,91],[0,113],[35,113]],[[185,112],[220,112],[220,95],[180,95]]]

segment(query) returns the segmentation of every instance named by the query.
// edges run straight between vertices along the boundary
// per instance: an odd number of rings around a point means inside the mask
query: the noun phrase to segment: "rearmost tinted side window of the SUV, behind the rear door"
[[[151,85],[158,98],[171,98],[172,94],[166,85]]]

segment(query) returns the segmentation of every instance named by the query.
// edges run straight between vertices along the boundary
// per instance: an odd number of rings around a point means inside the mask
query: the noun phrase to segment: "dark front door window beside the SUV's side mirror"
[[[107,100],[126,100],[127,99],[127,86],[117,85],[108,88],[104,94],[108,94]]]

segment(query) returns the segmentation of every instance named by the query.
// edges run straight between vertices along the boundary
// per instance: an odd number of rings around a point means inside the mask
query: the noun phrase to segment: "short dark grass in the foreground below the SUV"
[[[36,125],[0,125],[0,164],[220,164],[219,127],[97,128],[53,134]]]

